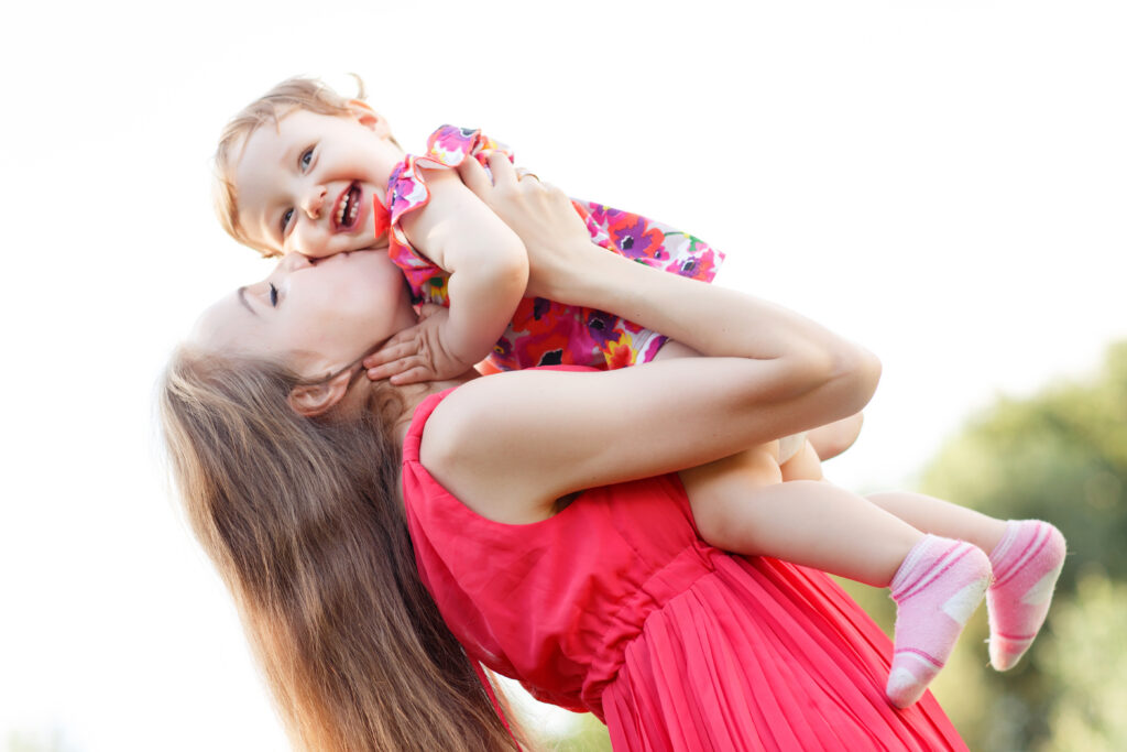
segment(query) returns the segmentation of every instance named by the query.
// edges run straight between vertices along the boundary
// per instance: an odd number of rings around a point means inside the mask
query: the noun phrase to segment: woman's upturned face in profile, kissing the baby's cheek
[[[194,338],[207,348],[281,361],[318,380],[416,318],[402,272],[387,250],[317,262],[291,254],[261,282],[207,309]]]

